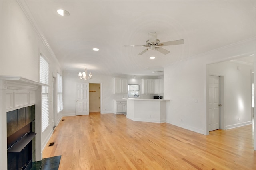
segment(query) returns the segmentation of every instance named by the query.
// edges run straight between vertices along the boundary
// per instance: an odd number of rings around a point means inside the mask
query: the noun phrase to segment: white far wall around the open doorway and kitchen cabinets
[[[112,76],[95,74],[92,71],[93,78],[91,80],[81,80],[78,72],[64,71],[63,72],[63,116],[76,115],[76,83],[102,83],[102,114],[114,112],[114,99],[127,98],[128,94],[114,94],[114,79]],[[122,76],[127,78],[127,84],[141,85],[141,77],[136,79]],[[148,77],[156,79],[157,77]],[[154,94],[141,94],[141,98],[153,98]]]

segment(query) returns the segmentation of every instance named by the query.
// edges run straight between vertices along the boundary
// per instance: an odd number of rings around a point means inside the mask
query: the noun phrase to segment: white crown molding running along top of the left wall
[[[38,34],[38,36],[40,37],[40,39],[44,43],[45,47],[48,49],[48,51],[50,52],[50,54],[52,55],[52,57],[56,61],[56,63],[60,66],[60,68],[62,68],[62,66],[60,65],[60,62],[58,61],[56,55],[54,54],[52,48],[50,47],[47,39],[45,38],[45,36],[43,34],[43,32],[40,30],[40,27],[38,27],[38,24],[36,23],[36,20],[33,16],[32,12],[30,11],[30,8],[28,7],[26,1],[17,0],[17,3],[20,5],[20,8],[22,9],[24,14],[26,15],[26,17],[30,21],[31,25],[34,27],[36,33]]]

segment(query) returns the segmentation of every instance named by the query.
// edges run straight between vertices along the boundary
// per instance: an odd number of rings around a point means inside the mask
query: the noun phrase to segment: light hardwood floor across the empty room
[[[90,113],[63,117],[43,157],[62,155],[59,170],[256,169],[252,125],[201,135],[168,123]]]

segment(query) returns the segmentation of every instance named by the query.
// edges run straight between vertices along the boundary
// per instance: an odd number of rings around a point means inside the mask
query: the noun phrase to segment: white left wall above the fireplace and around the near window
[[[42,53],[50,64],[50,93],[52,96],[52,76],[57,77],[57,72],[62,73],[60,64],[55,56],[50,53],[30,20],[26,17],[17,1],[1,1],[1,75],[21,76],[39,82],[39,59]],[[42,150],[52,134],[52,100],[50,97],[50,125],[41,134]],[[1,113],[6,114],[6,113]],[[40,113],[39,113],[40,114]],[[61,113],[57,119],[61,119]],[[1,125],[6,125],[6,120],[1,120]],[[6,137],[2,136],[6,139]],[[2,145],[2,142],[1,142]],[[2,153],[2,152],[1,152]],[[2,157],[6,155],[1,154]],[[1,162],[0,169],[5,169],[7,162]]]

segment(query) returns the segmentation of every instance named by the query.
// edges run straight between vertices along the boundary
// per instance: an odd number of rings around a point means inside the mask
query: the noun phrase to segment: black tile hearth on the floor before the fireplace
[[[61,156],[44,158],[42,161],[33,162],[31,170],[58,170]]]

